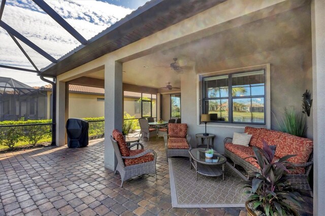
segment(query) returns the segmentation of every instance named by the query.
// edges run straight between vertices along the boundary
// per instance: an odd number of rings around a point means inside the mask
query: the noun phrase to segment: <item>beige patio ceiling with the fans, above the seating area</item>
[[[277,18],[281,16],[281,18]],[[181,76],[188,73],[208,73],[216,70],[221,61],[233,61],[238,56],[265,53],[274,49],[284,49],[303,43],[303,28],[280,28],[293,19],[295,13],[285,11],[264,19],[252,20],[239,27],[232,27],[211,35],[202,35],[201,39],[192,40],[185,44],[175,45],[168,50],[155,53],[123,63],[123,83],[160,88],[171,82],[172,86],[181,87]],[[297,16],[297,14],[296,14]],[[252,19],[254,16],[251,16]],[[306,21],[308,22],[308,21]],[[272,26],[271,26],[272,25]],[[222,29],[222,26],[219,26]],[[261,32],[268,32],[263,37]],[[281,40],[290,38],[291,40]],[[253,39],[253,40],[252,40]],[[178,58],[181,66],[185,66],[183,74],[177,74],[169,68],[173,58]],[[167,67],[157,67],[166,65]],[[222,65],[218,65],[219,70]],[[104,70],[86,75],[86,77],[104,79]]]

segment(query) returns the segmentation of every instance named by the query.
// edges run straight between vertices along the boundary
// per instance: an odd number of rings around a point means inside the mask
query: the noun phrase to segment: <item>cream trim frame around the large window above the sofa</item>
[[[233,127],[233,128],[244,128],[246,126],[253,126],[253,127],[266,127],[268,129],[271,128],[271,82],[270,82],[270,64],[261,64],[261,65],[254,65],[248,67],[240,67],[235,69],[229,70],[220,70],[220,71],[213,71],[210,73],[203,73],[197,76],[197,125],[204,125],[200,122],[200,116],[202,114],[202,97],[203,97],[203,88],[202,88],[202,80],[205,77],[211,77],[216,75],[229,75],[235,74],[239,72],[244,72],[247,70],[258,70],[264,69],[265,70],[265,114],[266,114],[266,122],[265,125],[252,125],[252,124],[236,124],[236,123],[208,123],[209,126],[214,127]]]

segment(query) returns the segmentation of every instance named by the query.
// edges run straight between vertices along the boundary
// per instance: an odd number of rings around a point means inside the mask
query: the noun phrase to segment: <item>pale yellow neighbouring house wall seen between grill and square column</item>
[[[104,95],[69,94],[69,118],[95,118],[104,116]]]

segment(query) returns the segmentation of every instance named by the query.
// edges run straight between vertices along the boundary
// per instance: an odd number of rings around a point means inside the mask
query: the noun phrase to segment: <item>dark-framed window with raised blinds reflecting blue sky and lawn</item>
[[[211,121],[266,124],[265,70],[203,78],[203,114]]]

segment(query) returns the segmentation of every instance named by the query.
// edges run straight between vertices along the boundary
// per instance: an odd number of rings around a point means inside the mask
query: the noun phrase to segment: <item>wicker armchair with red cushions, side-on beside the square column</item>
[[[153,150],[144,150],[140,142],[135,142],[127,147],[122,133],[118,130],[114,130],[113,136],[110,136],[110,138],[117,158],[117,166],[114,173],[116,174],[116,171],[118,171],[121,175],[122,182],[120,187],[123,187],[124,181],[137,175],[152,173],[157,178],[157,154]],[[141,149],[130,150],[136,145],[140,145]]]

